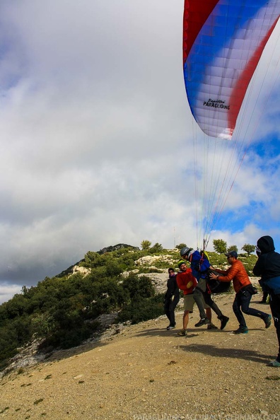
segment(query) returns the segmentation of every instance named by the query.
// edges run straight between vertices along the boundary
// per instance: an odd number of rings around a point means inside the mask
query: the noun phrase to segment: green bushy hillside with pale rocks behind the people
[[[256,256],[240,258],[250,275]],[[30,343],[50,353],[91,339],[103,329],[102,315],[115,313],[115,322],[132,324],[163,315],[165,275],[178,259],[178,249],[163,250],[158,243],[147,250],[118,244],[88,251],[57,276],[23,286],[0,305],[0,375]],[[223,267],[226,257],[213,252],[211,262]]]

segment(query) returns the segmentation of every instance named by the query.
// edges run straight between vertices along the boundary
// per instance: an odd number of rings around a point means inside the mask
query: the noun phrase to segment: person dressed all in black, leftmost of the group
[[[175,308],[180,301],[180,292],[177,286],[175,270],[172,267],[168,269],[168,274],[167,291],[164,296],[164,313],[170,322],[166,329],[173,329],[176,325]]]

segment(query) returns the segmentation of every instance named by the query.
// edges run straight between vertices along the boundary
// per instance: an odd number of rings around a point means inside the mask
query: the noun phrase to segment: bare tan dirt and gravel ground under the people
[[[181,308],[175,330],[165,317],[142,322],[6,375],[0,419],[280,419],[280,369],[266,366],[278,349],[274,326],[247,316],[249,334],[233,334],[233,298],[215,298],[230,317],[224,331],[195,328],[196,309],[178,336]],[[252,306],[270,313],[259,298]]]

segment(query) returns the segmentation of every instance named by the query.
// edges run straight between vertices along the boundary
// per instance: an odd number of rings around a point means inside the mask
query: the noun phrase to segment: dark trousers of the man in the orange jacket
[[[268,314],[262,312],[261,310],[250,308],[250,301],[252,295],[245,289],[241,289],[235,295],[235,299],[233,301],[233,312],[235,313],[235,317],[237,317],[239,322],[239,327],[242,329],[247,329],[245,318],[243,317],[243,313],[246,315],[252,315],[253,317],[259,317],[264,320]]]

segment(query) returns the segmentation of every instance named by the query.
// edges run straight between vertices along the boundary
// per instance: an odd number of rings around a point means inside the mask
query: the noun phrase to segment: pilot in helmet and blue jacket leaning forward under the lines
[[[218,315],[218,319],[221,321],[221,329],[226,327],[229,318],[221,313],[216,303],[211,299],[211,291],[209,286],[206,284],[206,276],[208,274],[210,266],[209,259],[201,255],[199,251],[195,251],[189,247],[183,247],[180,251],[180,255],[183,259],[187,259],[190,262],[192,274],[197,279],[197,286],[194,288],[194,301],[197,303],[199,308],[200,320],[195,324],[195,327],[201,327],[202,325],[209,324],[209,318],[206,317],[204,305],[209,305],[212,310]]]

